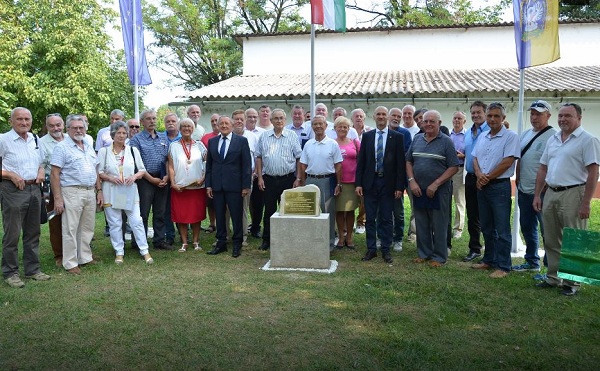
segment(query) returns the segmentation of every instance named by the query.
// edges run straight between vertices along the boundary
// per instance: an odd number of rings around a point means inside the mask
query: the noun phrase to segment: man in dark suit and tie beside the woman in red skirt
[[[213,199],[217,219],[217,244],[208,252],[216,255],[227,251],[225,211],[229,209],[233,223],[233,253],[241,255],[243,230],[243,198],[250,193],[252,163],[248,140],[232,133],[233,122],[227,116],[217,122],[220,134],[208,141],[206,156],[206,193]]]

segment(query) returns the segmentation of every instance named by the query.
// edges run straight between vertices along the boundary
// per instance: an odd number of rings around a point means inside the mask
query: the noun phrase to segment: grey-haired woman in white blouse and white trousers
[[[104,213],[108,221],[110,242],[115,249],[115,263],[123,263],[125,242],[123,241],[122,212],[129,220],[140,254],[147,264],[154,263],[148,253],[148,241],[140,216],[140,197],[136,180],[144,176],[146,168],[137,148],[125,144],[127,124],[115,121],[110,125],[112,145],[98,152],[98,174],[102,179]]]

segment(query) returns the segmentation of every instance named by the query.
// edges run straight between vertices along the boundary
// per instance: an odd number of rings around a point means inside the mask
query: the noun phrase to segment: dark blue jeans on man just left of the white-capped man
[[[479,221],[485,240],[483,263],[510,272],[512,231],[510,214],[512,207],[510,180],[491,183],[477,190]]]

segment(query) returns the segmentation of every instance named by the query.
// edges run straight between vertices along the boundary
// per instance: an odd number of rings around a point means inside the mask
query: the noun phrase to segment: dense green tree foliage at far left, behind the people
[[[131,112],[124,58],[105,31],[116,14],[104,1],[0,1],[0,125],[10,109],[31,110],[34,129],[51,112],[84,113],[105,126],[114,108]]]

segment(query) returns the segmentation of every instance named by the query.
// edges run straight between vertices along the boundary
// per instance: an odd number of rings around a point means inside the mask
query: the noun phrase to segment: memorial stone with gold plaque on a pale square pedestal
[[[287,189],[271,216],[272,268],[329,269],[329,214],[321,214],[315,185]]]

